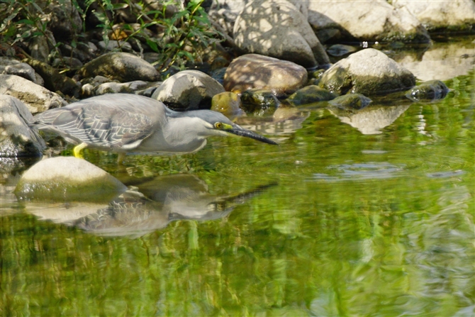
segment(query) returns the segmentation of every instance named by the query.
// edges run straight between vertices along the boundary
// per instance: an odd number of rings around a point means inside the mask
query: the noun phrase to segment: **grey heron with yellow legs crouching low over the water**
[[[240,135],[276,145],[211,110],[173,111],[161,101],[135,94],[104,94],[74,102],[33,117],[29,126],[62,136],[76,146],[118,152],[121,164],[128,152],[186,154],[201,150],[213,135]]]

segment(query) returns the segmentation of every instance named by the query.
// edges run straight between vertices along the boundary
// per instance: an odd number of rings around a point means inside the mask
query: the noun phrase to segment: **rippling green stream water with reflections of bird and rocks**
[[[474,316],[474,76],[442,101],[243,122],[278,147],[212,138],[125,169],[86,150],[135,188],[111,203],[18,202],[4,162],[2,316]]]

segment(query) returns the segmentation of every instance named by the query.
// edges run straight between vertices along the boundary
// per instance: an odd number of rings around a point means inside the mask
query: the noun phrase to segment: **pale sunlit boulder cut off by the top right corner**
[[[392,4],[398,9],[407,9],[413,13],[429,31],[471,30],[475,24],[475,2],[473,0],[393,0]]]

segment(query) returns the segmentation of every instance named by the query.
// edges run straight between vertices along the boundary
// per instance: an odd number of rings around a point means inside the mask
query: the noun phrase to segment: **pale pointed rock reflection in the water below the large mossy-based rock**
[[[409,106],[374,105],[358,111],[342,110],[332,106],[328,110],[342,122],[357,128],[363,134],[380,134],[381,129],[396,121]]]

